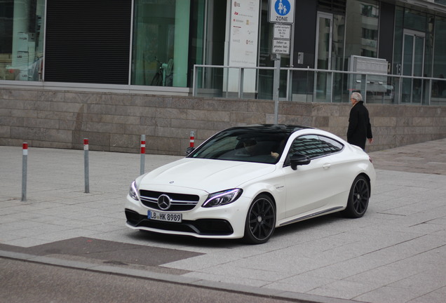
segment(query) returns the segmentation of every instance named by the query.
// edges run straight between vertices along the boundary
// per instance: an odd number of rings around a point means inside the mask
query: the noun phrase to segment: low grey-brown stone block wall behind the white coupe
[[[369,152],[446,137],[446,107],[366,105],[374,143]],[[349,104],[281,102],[279,123],[313,126],[345,138]],[[273,123],[272,100],[237,100],[44,88],[0,88],[0,145],[184,154],[219,130]],[[367,143],[368,144],[368,143]]]

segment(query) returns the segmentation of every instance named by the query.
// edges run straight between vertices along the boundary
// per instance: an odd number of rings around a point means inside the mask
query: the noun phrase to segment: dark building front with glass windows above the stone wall
[[[275,60],[271,57],[271,51],[274,25],[269,22],[269,0],[110,0],[122,6],[108,6],[107,1],[90,0],[88,4],[97,8],[97,11],[90,13],[90,23],[107,17],[116,23],[116,15],[107,11],[112,7],[114,12],[119,13],[118,16],[126,15],[122,24],[128,27],[121,34],[123,39],[118,41],[116,30],[112,31],[109,27],[100,32],[112,37],[104,38],[112,41],[107,47],[103,41],[93,40],[97,42],[97,45],[93,45],[86,43],[86,39],[77,39],[86,38],[88,34],[81,32],[81,27],[91,31],[88,22],[72,22],[70,19],[69,26],[74,28],[71,36],[65,29],[59,30],[60,19],[51,23],[52,17],[60,13],[50,9],[50,4],[56,2],[60,4],[57,0],[0,0],[0,81],[116,83],[158,87],[158,90],[163,90],[162,87],[168,90],[169,87],[191,88],[195,85],[194,88],[215,97],[236,96],[240,93],[236,91],[238,86],[243,85],[241,95],[245,93],[245,97],[273,98],[272,67]],[[80,2],[69,2],[79,10],[71,14],[72,18],[80,18],[81,14],[85,17],[83,8],[86,3]],[[59,5],[58,10],[69,11],[65,8],[67,3]],[[446,55],[443,51],[446,48],[446,16],[440,16],[433,10],[408,8],[398,1],[332,0],[330,3],[333,6],[326,3],[309,0],[295,2],[296,12],[301,8],[304,10],[298,12],[300,18],[295,18],[295,24],[289,29],[290,53],[281,54],[278,92],[282,100],[349,102],[351,90],[365,90],[367,81],[365,93],[366,97],[370,97],[367,102],[384,102],[386,99],[385,102],[389,103],[427,104],[431,102],[431,97],[446,97],[446,80],[442,80],[446,75]],[[334,4],[344,5],[335,7]],[[117,8],[126,8],[127,11],[123,13]],[[104,13],[101,15],[101,12]],[[302,18],[305,22],[302,22]],[[386,22],[383,23],[383,20]],[[75,29],[72,24],[78,28]],[[393,28],[381,29],[383,24],[384,27],[391,25]],[[47,37],[44,43],[45,25]],[[307,25],[307,29],[303,28]],[[389,30],[392,36],[383,39],[380,34]],[[48,41],[52,31],[59,36],[51,40],[51,44]],[[74,56],[79,53],[77,50],[62,53],[61,38],[65,39],[65,48],[74,49],[76,46],[88,52],[83,53],[80,59]],[[390,39],[393,40],[388,41]],[[109,54],[123,45],[126,48],[121,48],[121,53],[113,57],[126,58],[119,69],[116,60],[107,59],[112,57],[99,55],[100,58],[104,57],[105,64],[113,72],[105,71],[103,65],[93,65],[95,59],[85,55],[95,52]],[[356,72],[351,69],[353,57],[379,59],[383,58],[383,50],[387,52],[384,61],[389,63],[387,81],[370,80],[363,74],[349,74]],[[50,53],[58,55],[53,65],[50,64]],[[234,57],[249,62],[249,65],[235,64]],[[82,66],[74,72],[68,62],[79,65],[76,60],[82,60],[86,68]],[[219,67],[201,67],[194,71],[194,65]],[[223,67],[228,65],[231,68]],[[241,66],[245,68],[243,78],[238,75]],[[297,66],[299,70],[287,70],[288,67]],[[66,67],[67,72],[62,75],[65,77],[60,77],[59,73],[51,78],[50,72],[60,67]],[[306,70],[302,70],[305,67]],[[102,72],[97,76],[102,81],[89,81],[90,78],[79,75],[85,75],[83,71],[88,68],[95,70],[95,74]],[[125,77],[113,82],[104,74],[123,74]],[[197,83],[194,80],[198,80]],[[379,86],[380,90],[372,90],[372,86]]]

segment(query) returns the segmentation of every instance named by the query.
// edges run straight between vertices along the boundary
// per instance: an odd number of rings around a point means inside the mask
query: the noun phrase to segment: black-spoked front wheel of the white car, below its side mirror
[[[276,228],[276,208],[272,199],[259,194],[252,201],[245,222],[244,240],[250,244],[262,244],[271,238]]]

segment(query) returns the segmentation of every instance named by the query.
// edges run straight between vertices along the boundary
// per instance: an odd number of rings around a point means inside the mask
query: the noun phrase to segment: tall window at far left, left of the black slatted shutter
[[[0,80],[41,80],[45,0],[2,0]]]

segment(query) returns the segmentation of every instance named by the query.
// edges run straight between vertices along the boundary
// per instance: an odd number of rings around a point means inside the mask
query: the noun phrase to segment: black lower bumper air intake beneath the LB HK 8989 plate
[[[165,231],[184,231],[206,236],[226,236],[234,233],[231,224],[222,219],[184,220],[181,223],[149,220],[133,210],[126,209],[127,223],[133,227],[149,227]]]

